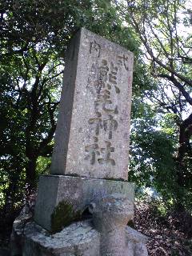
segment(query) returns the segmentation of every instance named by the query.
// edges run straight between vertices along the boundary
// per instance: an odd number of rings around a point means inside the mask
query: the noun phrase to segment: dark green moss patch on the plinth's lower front
[[[70,202],[59,202],[58,206],[54,208],[53,214],[51,214],[51,233],[54,234],[61,231],[65,226],[69,226],[75,220],[81,219],[81,216],[81,211],[75,211]]]

